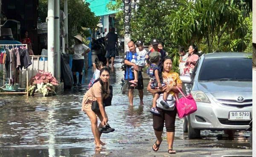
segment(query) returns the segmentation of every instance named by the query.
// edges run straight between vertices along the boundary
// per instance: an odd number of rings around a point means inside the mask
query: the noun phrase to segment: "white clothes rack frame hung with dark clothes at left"
[[[10,47],[12,46],[12,48],[15,48],[17,46],[25,46],[26,48],[28,47],[28,44],[0,44],[0,47]],[[5,66],[3,66],[3,71],[5,72]],[[22,75],[22,70],[21,71],[21,75]],[[5,73],[3,73],[3,84],[5,84]],[[27,96],[29,96],[29,79],[28,79],[28,70],[26,68],[26,92],[2,92],[0,94],[26,94]]]

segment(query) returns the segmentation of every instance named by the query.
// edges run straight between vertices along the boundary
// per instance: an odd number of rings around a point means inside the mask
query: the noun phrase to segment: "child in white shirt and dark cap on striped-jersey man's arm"
[[[147,51],[143,48],[143,42],[142,41],[137,41],[136,43],[136,52],[137,52],[137,61],[135,64],[139,67],[139,70],[141,70],[143,67],[145,67],[145,56],[147,54]],[[139,71],[138,70],[138,71]],[[134,72],[134,80],[131,80],[130,82],[133,83],[131,84],[131,87],[136,87],[137,82],[138,82],[138,71],[133,70]]]

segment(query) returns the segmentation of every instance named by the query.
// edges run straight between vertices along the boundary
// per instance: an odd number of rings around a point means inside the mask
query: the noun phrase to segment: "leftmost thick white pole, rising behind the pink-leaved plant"
[[[47,38],[48,38],[48,71],[55,76],[54,73],[54,0],[48,0],[47,15]]]

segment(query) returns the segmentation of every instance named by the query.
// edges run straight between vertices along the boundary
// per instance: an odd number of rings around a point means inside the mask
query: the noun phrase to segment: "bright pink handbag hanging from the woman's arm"
[[[184,116],[194,113],[197,110],[197,107],[191,94],[185,96],[180,88],[177,87],[177,89],[183,96],[182,98],[178,99],[177,94],[175,94],[177,113],[179,118],[183,118]]]

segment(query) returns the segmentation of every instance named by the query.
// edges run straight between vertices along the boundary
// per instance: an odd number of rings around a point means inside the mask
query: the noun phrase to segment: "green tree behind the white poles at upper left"
[[[68,0],[68,34],[69,44],[72,44],[72,36],[81,34],[84,37],[90,36],[89,29],[93,29],[99,22],[99,17],[96,17],[90,11],[89,3],[84,0]],[[38,15],[42,22],[45,22],[47,17],[48,0],[39,0]],[[64,0],[61,0],[61,10],[64,10]]]

